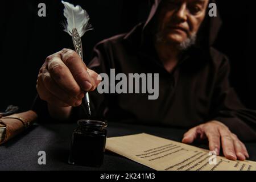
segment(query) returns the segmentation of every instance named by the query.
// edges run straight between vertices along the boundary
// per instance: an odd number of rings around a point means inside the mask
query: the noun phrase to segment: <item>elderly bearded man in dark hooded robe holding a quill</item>
[[[229,85],[226,56],[212,48],[218,18],[208,17],[208,4],[155,0],[147,22],[97,44],[88,67],[71,49],[48,56],[38,76],[41,100],[35,107],[47,108],[59,120],[86,118],[81,103],[83,91],[90,91],[98,119],[187,128],[184,143],[208,139],[217,154],[222,148],[228,159],[249,158],[240,139],[256,138],[256,112],[240,103]],[[125,75],[159,73],[158,99],[98,93],[98,74],[110,69]]]

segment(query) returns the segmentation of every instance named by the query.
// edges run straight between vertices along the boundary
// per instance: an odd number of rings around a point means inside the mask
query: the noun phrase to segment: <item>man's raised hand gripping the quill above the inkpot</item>
[[[56,107],[52,113],[60,111],[59,115],[62,113],[68,117],[72,106],[81,105],[84,91],[96,89],[100,82],[100,76],[88,69],[75,51],[63,49],[47,57],[40,69],[36,88],[39,97],[48,102],[48,109]]]

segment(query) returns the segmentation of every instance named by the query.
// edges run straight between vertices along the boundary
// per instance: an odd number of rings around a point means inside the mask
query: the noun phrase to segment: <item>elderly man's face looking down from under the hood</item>
[[[195,39],[209,0],[163,0],[157,14],[158,38],[183,44]]]

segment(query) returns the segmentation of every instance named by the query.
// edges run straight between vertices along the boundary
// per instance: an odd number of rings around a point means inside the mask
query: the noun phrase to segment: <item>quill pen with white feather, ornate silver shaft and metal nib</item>
[[[61,1],[65,6],[64,16],[67,18],[67,22],[64,24],[64,31],[72,36],[73,44],[76,49],[76,52],[79,54],[81,59],[82,56],[82,42],[81,37],[85,34],[85,32],[89,30],[93,30],[92,26],[89,23],[89,15],[88,13],[81,8],[81,6],[74,6],[71,3]],[[84,100],[88,113],[91,116],[92,112],[90,110],[90,99],[89,93],[85,92],[85,100]]]

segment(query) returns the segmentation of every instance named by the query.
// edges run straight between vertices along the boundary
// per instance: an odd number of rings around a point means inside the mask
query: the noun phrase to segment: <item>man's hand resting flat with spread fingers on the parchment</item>
[[[245,160],[249,158],[245,144],[243,144],[235,134],[231,133],[227,126],[218,121],[193,127],[184,134],[183,143],[191,144],[196,139],[205,139],[209,141],[209,150],[220,154],[220,148],[224,156],[230,160]]]

